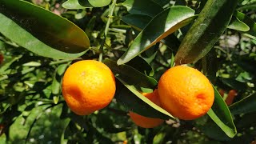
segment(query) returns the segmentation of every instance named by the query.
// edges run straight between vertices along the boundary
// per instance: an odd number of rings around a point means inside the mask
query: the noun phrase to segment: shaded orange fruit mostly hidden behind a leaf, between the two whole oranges
[[[142,93],[146,98],[149,98],[151,102],[154,102],[156,105],[160,105],[160,101],[158,98],[158,90],[154,90],[153,93]],[[142,115],[133,113],[129,111],[129,115],[131,120],[137,125],[143,128],[153,128],[155,126],[161,125],[164,120],[160,118],[148,118]]]

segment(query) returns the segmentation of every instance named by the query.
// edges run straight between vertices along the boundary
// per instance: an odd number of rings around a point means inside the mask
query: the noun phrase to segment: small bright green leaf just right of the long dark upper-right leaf
[[[250,27],[247,26],[244,22],[240,21],[238,18],[232,18],[229,26],[227,28],[232,30],[239,30],[239,31],[248,31]]]

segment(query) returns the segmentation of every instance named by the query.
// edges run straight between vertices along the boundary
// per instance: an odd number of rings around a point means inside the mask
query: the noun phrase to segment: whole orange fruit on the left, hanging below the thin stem
[[[106,107],[116,90],[114,74],[94,60],[72,64],[62,79],[62,95],[75,114],[87,115]]]

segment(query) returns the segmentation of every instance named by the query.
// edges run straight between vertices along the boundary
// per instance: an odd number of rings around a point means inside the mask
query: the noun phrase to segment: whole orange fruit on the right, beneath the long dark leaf
[[[158,82],[162,107],[174,117],[192,120],[206,114],[214,103],[209,80],[189,66],[174,66]]]

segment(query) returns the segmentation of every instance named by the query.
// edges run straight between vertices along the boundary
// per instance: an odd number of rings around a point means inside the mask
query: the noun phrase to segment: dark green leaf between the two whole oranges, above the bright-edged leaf
[[[158,82],[151,77],[142,74],[138,70],[135,70],[133,67],[128,65],[117,65],[117,62],[114,62],[110,59],[104,60],[106,66],[109,66],[112,72],[116,75],[118,74],[118,78],[121,78],[124,82],[129,85],[133,85],[137,90],[143,91],[144,89],[152,89],[154,90],[157,86]]]

